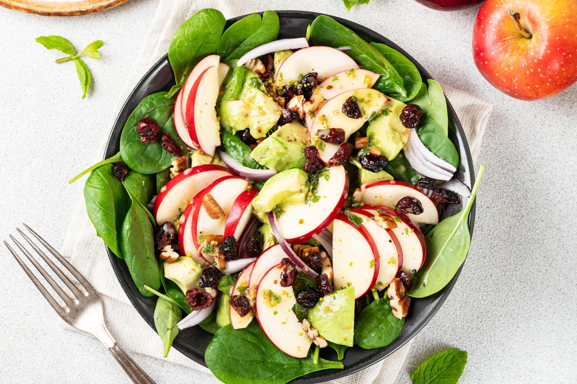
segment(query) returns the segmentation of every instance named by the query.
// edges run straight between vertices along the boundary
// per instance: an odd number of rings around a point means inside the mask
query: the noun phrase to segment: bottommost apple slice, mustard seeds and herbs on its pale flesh
[[[306,357],[311,341],[293,312],[297,300],[292,285],[280,286],[280,272],[282,266],[275,265],[261,278],[254,298],[254,313],[263,333],[276,348],[289,356]],[[272,295],[278,296],[280,302],[271,300]]]

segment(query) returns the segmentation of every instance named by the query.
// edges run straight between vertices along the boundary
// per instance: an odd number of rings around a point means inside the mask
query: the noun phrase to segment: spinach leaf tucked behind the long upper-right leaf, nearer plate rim
[[[403,86],[404,89],[407,91],[407,95],[403,96],[399,93],[391,93],[390,96],[393,99],[397,99],[399,101],[407,101],[413,99],[419,93],[419,89],[421,89],[421,74],[419,70],[413,62],[409,59],[404,57],[402,53],[399,51],[385,46],[385,44],[370,43],[373,47],[377,48],[377,51],[381,52],[385,59],[395,67],[396,71],[399,73],[400,77],[403,79]]]

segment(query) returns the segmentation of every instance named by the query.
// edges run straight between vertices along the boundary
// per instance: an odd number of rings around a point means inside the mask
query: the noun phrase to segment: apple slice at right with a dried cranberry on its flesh
[[[439,211],[434,202],[414,185],[402,181],[386,180],[366,186],[361,195],[361,202],[395,208],[397,202],[406,196],[414,197],[423,207],[421,214],[407,213],[409,219],[415,223],[433,225],[439,223]]]

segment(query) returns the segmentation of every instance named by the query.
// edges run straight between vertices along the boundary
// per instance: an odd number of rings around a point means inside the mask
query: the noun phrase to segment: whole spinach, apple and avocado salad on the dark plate
[[[166,357],[213,333],[225,383],[284,383],[390,344],[470,244],[439,84],[328,16],[278,39],[275,12],[224,29],[194,14],[168,48],[176,85],[144,97],[84,187],[100,238],[158,296]],[[440,221],[447,205],[460,205]]]

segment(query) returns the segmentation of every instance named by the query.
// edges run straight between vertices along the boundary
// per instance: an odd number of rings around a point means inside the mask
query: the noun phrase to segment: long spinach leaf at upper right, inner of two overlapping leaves
[[[381,76],[373,86],[377,91],[389,94],[407,96],[403,88],[403,79],[395,67],[377,51],[375,47],[365,42],[356,33],[328,16],[321,15],[314,19],[310,26],[310,37],[317,46],[333,48],[351,47],[345,53],[354,59],[364,69],[379,73]]]

